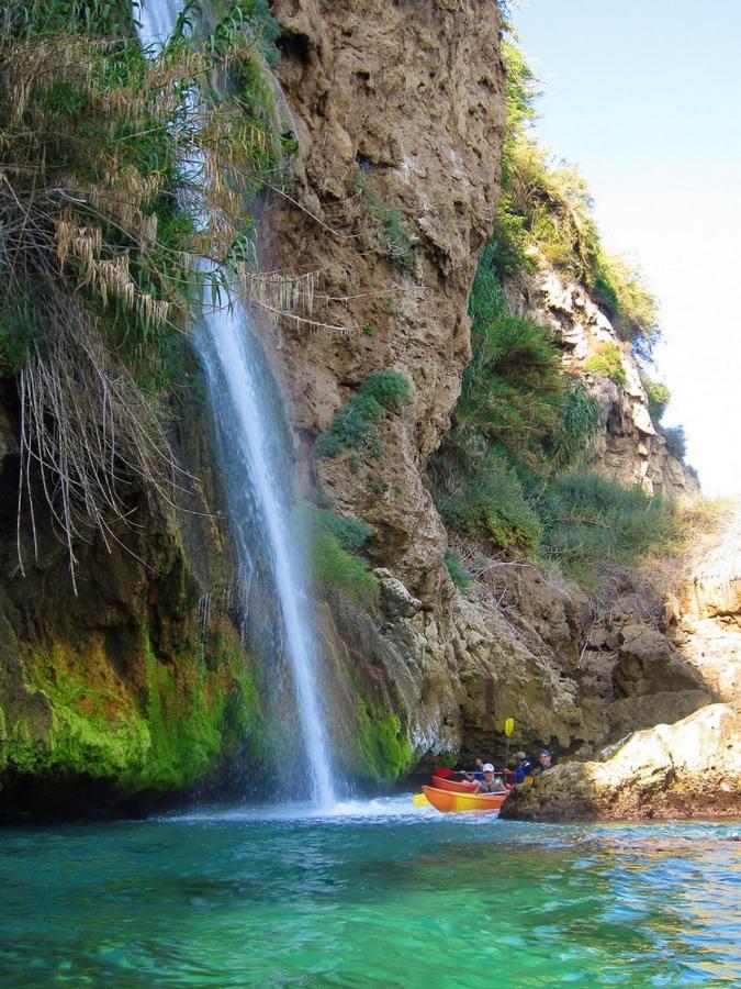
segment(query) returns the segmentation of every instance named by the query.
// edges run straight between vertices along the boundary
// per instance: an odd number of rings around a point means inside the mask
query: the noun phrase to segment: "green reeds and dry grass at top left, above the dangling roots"
[[[262,59],[245,52],[246,36],[277,52],[268,4],[238,0],[214,24],[189,5],[187,20],[147,58],[123,0],[16,0],[0,19],[0,305],[25,324],[21,336],[52,332],[46,310],[81,307],[135,374],[160,345],[172,349],[203,287],[193,258],[205,240],[224,260],[214,278],[228,277],[249,225],[236,201],[282,155]],[[213,76],[225,69],[220,95]],[[209,93],[199,126],[193,87]],[[195,187],[182,163],[199,156],[214,170],[239,167],[229,182]],[[192,195],[178,197],[183,188]],[[26,222],[16,227],[15,214]],[[16,356],[7,348],[5,364]]]

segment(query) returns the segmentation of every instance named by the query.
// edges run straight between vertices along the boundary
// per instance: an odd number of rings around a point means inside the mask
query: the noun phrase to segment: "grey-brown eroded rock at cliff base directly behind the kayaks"
[[[390,570],[375,574],[383,620],[356,663],[372,663],[392,691],[417,762],[503,755],[502,726],[512,714],[523,744],[568,747],[581,737],[574,679],[542,640],[527,644],[485,590],[454,593],[445,609],[429,611]],[[353,637],[348,631],[346,641]]]

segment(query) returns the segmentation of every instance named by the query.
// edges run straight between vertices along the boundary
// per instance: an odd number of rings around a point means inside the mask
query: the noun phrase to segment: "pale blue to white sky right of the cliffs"
[[[741,0],[517,0],[537,133],[661,303],[654,374],[706,493],[741,493]]]

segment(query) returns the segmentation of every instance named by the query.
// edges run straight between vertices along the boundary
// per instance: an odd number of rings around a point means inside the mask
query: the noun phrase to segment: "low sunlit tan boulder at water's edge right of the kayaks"
[[[605,762],[554,766],[502,812],[537,821],[738,814],[741,719],[726,704],[637,732]]]

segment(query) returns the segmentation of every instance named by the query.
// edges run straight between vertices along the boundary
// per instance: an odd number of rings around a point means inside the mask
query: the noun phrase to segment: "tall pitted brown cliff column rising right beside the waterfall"
[[[271,203],[270,264],[319,270],[313,316],[280,326],[277,364],[312,435],[374,370],[412,382],[380,457],[322,460],[341,512],[373,525],[370,552],[428,607],[445,533],[422,482],[470,357],[468,298],[498,199],[504,123],[491,0],[278,0],[279,78],[301,144],[294,199]],[[316,219],[314,219],[316,218]]]

